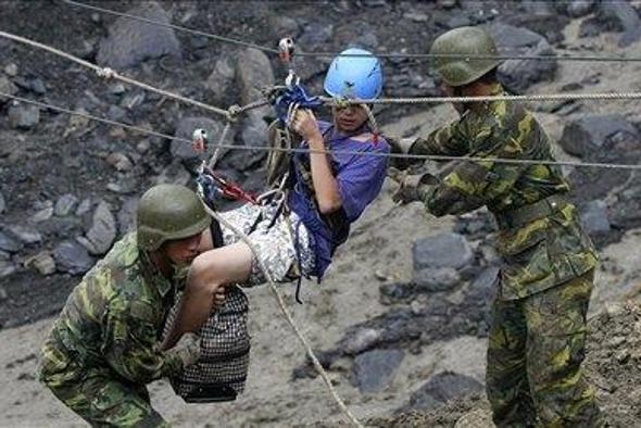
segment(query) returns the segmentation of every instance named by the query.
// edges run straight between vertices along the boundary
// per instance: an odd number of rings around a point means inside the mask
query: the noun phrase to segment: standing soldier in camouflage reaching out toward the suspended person
[[[497,55],[481,28],[453,29],[433,42],[435,54]],[[498,96],[498,60],[441,56],[436,67],[449,96]],[[515,102],[455,104],[458,121],[425,139],[403,140],[412,154],[478,156],[440,178],[402,175],[397,199],[423,201],[433,215],[487,206],[503,259],[492,307],[487,394],[494,423],[506,426],[592,427],[603,421],[581,370],[586,313],[598,256],[556,166],[508,164],[493,158],[553,161],[550,141],[530,112]]]

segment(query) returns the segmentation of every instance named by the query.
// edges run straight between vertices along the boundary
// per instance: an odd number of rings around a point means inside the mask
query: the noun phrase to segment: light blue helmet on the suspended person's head
[[[375,99],[381,90],[380,61],[372,52],[363,49],[351,48],[342,51],[331,61],[325,76],[325,91],[335,98]]]

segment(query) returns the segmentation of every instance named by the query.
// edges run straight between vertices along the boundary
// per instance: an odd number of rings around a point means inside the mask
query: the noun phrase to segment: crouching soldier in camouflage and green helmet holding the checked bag
[[[211,218],[191,190],[160,185],[140,199],[137,223],[73,290],[40,355],[40,381],[92,426],[168,426],[146,383],[180,373],[200,353],[193,333],[168,351],[159,335],[175,272],[198,254]]]

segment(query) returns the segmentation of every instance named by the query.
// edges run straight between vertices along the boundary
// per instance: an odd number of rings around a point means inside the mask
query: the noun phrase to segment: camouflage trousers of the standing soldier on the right
[[[604,426],[581,370],[593,278],[494,301],[486,380],[498,427]]]

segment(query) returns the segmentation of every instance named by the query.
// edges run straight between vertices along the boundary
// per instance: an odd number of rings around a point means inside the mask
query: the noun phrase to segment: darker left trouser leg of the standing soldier
[[[495,300],[488,345],[486,392],[498,427],[532,427],[536,423],[527,378],[526,340],[521,302]]]

